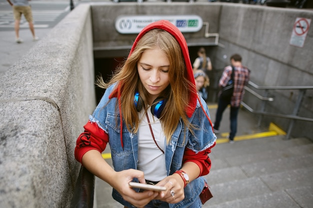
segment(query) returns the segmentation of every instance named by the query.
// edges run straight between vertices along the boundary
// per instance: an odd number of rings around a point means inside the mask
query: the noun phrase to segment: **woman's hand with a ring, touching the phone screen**
[[[156,184],[156,186],[166,187],[166,191],[160,192],[155,198],[170,204],[178,203],[184,199],[184,182],[178,174],[167,176]]]

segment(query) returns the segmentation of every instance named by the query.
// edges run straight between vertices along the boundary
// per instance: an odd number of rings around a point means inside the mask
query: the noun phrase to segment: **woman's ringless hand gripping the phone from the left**
[[[116,177],[114,177],[114,180],[110,182],[110,185],[122,196],[125,201],[129,202],[136,208],[143,208],[159,193],[153,191],[144,191],[140,193],[135,192],[128,185],[128,183],[131,182],[133,178],[137,178],[139,183],[145,184],[142,171],[129,169],[116,172]]]

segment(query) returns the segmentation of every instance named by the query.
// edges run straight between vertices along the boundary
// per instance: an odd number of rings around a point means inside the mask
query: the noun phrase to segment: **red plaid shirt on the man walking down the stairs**
[[[250,78],[250,70],[244,66],[236,66],[234,70],[234,89],[230,100],[230,105],[232,107],[239,107],[244,94],[243,87],[248,84]],[[226,86],[228,80],[230,79],[231,71],[231,66],[226,66],[224,68],[224,71],[219,79],[219,87]]]

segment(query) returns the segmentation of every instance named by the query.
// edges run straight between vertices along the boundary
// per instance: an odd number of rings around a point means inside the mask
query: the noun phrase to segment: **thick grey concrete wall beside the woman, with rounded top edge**
[[[89,5],[79,5],[0,82],[0,207],[69,207],[73,151],[95,107]]]

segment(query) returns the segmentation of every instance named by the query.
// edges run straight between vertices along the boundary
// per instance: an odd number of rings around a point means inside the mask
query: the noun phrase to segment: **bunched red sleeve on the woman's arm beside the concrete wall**
[[[102,153],[108,142],[108,135],[94,122],[88,121],[83,127],[85,130],[79,135],[75,147],[75,159],[81,163],[82,156],[89,150]]]

